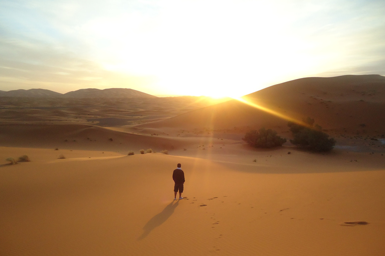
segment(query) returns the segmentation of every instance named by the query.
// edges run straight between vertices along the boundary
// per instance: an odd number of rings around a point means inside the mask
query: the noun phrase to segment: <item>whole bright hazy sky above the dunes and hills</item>
[[[384,0],[0,0],[0,90],[241,96],[385,75]]]

